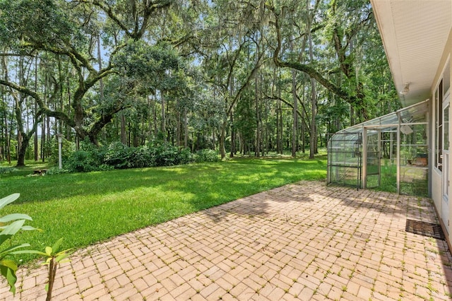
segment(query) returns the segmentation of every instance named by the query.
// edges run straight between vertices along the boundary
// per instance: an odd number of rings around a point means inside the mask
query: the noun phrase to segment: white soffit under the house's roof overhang
[[[404,106],[429,98],[451,30],[452,0],[371,0],[381,39]]]

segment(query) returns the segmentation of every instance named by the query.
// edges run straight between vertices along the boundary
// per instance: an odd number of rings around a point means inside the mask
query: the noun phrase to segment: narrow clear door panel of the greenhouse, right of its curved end
[[[379,187],[381,183],[381,134],[379,129],[364,129],[364,188]]]

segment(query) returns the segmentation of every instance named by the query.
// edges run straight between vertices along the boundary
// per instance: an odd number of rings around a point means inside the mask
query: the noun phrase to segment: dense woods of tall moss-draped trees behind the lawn
[[[398,109],[368,0],[0,0],[0,160],[309,152]]]

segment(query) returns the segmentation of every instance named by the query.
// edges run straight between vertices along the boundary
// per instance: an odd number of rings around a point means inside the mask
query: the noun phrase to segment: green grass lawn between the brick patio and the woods
[[[43,232],[13,243],[43,250],[60,237],[78,249],[300,180],[326,179],[326,156],[314,160],[234,159],[219,163],[28,177],[42,165],[0,175],[1,196],[20,193],[0,216],[26,213]],[[23,262],[34,259],[21,255]]]

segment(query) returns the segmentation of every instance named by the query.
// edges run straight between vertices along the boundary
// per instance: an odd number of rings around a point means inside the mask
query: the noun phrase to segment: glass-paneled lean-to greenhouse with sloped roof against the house
[[[338,131],[328,184],[429,196],[429,100]]]

